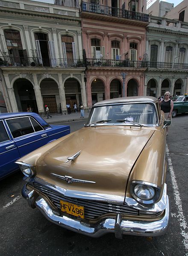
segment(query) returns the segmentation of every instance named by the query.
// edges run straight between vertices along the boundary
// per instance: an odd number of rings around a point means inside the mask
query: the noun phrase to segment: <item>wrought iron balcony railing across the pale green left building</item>
[[[36,57],[0,57],[0,66],[84,68],[84,62],[80,59],[39,59]]]

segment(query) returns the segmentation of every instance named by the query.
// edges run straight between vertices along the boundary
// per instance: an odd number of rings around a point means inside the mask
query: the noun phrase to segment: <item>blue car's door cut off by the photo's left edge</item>
[[[4,121],[0,121],[0,178],[18,169],[15,161],[20,158],[18,147],[12,140]]]

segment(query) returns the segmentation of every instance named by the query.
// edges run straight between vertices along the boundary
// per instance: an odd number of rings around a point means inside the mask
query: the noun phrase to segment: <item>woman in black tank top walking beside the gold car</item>
[[[165,99],[159,102],[161,106],[161,110],[165,113],[165,119],[171,120],[172,111],[173,111],[173,101],[170,100],[170,92],[166,91],[164,95]],[[167,135],[168,135],[168,127],[167,127]]]

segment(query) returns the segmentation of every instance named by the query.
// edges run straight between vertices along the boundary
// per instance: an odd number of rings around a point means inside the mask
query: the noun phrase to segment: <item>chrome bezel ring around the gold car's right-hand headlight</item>
[[[138,197],[138,194],[135,193],[135,187],[136,185],[146,185],[148,188],[150,188],[152,191],[154,191],[154,195],[150,199],[141,199]],[[138,201],[139,203],[144,203],[144,204],[152,204],[156,203],[159,200],[160,193],[161,193],[161,188],[157,186],[156,184],[142,181],[142,180],[132,180],[131,185],[130,185],[130,193],[132,197]]]

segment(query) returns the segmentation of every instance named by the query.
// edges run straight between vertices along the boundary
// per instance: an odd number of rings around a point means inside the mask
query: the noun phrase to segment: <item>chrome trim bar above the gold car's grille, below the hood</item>
[[[93,193],[93,192],[85,192],[85,191],[75,191],[70,189],[61,188],[57,185],[53,185],[49,182],[44,181],[43,179],[40,179],[38,177],[35,177],[35,179],[29,179],[28,184],[31,184],[33,182],[38,183],[39,185],[44,185],[47,188],[50,188],[54,191],[57,191],[60,194],[63,194],[67,197],[74,197],[74,198],[80,198],[80,199],[87,199],[87,200],[95,200],[95,201],[108,201],[113,203],[119,203],[119,204],[126,204],[128,206],[133,206],[135,209],[147,211],[147,212],[161,212],[166,209],[167,206],[167,186],[166,183],[164,185],[162,198],[159,202],[155,204],[150,205],[142,205],[138,203],[134,198],[131,197],[124,197],[124,196],[118,196],[118,195],[111,195],[111,194],[101,194],[101,193]]]

